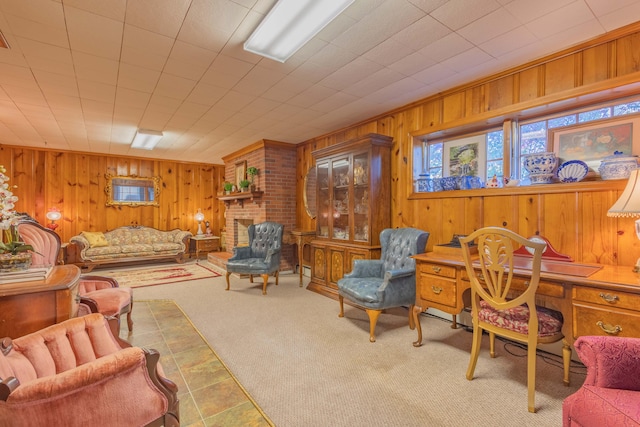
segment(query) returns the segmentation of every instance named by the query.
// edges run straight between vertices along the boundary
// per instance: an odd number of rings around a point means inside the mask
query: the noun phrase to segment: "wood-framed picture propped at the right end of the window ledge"
[[[597,171],[600,161],[616,151],[640,154],[640,117],[616,117],[551,129],[547,141],[560,162],[582,160]]]

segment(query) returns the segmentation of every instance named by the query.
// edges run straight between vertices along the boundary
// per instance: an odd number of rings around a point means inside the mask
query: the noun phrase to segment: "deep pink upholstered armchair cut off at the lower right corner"
[[[562,403],[563,426],[640,426],[640,338],[584,336],[575,349],[587,378]]]

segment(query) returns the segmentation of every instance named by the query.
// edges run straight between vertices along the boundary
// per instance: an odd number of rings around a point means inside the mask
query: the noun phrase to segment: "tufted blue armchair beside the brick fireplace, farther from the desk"
[[[270,274],[275,274],[278,286],[283,230],[284,226],[277,222],[249,226],[249,246],[233,248],[233,256],[227,261],[227,291],[231,273],[248,274],[251,283],[254,274],[261,275],[264,280],[262,295],[267,293]]]

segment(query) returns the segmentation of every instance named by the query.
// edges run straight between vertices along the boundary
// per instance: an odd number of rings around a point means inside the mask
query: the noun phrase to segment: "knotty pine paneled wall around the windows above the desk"
[[[633,220],[613,219],[607,209],[624,182],[548,186],[539,193],[476,190],[465,197],[412,194],[413,137],[478,129],[640,93],[640,22],[533,63],[471,82],[436,96],[354,124],[298,146],[298,194],[313,166],[311,152],[370,132],[394,138],[392,226],[431,232],[428,249],[453,233],[497,225],[522,235],[539,233],[577,261],[632,265],[640,256]],[[559,185],[559,184],[558,184]],[[553,188],[552,188],[553,187]],[[315,220],[297,208],[297,225],[315,229]]]

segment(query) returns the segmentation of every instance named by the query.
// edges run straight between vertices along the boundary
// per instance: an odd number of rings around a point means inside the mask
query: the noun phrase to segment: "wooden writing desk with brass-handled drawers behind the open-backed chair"
[[[429,307],[456,315],[471,305],[470,283],[462,257],[416,255],[416,303],[411,307],[422,345],[420,313]],[[564,316],[562,332],[572,345],[582,335],[640,337],[640,281],[630,266],[604,265],[589,277],[540,273],[539,304]],[[527,272],[514,270],[515,291],[526,286]]]

